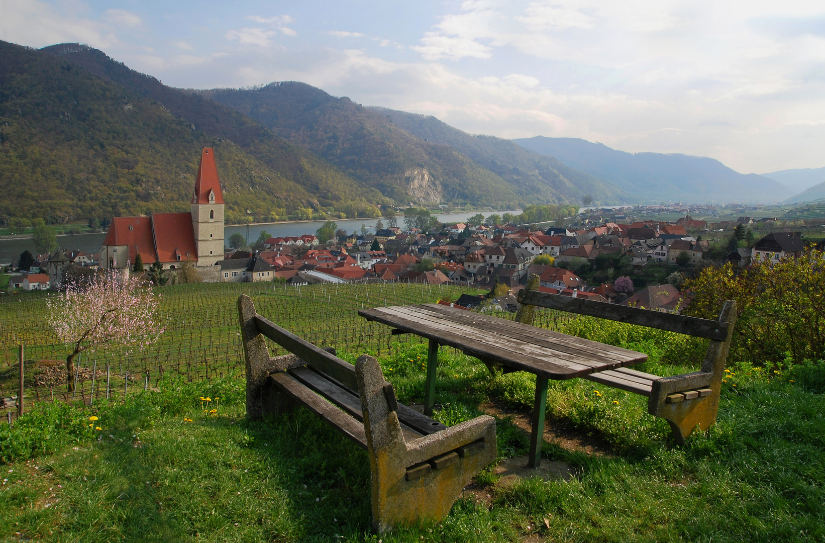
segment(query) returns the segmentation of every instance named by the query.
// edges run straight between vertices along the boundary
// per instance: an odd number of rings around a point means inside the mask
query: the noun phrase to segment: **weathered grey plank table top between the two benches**
[[[633,366],[648,360],[629,351],[565,333],[535,328],[448,305],[398,305],[361,309],[361,317],[455,347],[469,356],[513,371],[554,380]]]

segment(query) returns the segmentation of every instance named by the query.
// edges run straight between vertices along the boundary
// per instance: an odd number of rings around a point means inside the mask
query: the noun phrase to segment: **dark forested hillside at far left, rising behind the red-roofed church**
[[[163,87],[84,46],[0,42],[0,218],[188,210],[204,142],[216,148],[230,222],[369,216],[386,201],[227,107],[153,86]]]

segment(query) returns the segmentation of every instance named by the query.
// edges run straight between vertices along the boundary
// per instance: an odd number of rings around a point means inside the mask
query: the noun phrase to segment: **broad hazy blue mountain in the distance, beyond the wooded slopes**
[[[576,138],[536,136],[513,141],[614,183],[639,203],[769,202],[784,200],[790,192],[773,179],[734,172],[714,158],[625,153]]]

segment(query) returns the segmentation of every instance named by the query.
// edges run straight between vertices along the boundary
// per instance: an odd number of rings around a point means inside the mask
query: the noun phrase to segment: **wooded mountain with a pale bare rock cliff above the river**
[[[516,167],[506,162],[506,153],[498,153],[497,158],[504,163],[491,168],[491,161],[479,160],[481,153],[470,154],[468,146],[459,147],[451,139],[428,139],[408,130],[408,125],[396,124],[394,115],[388,114],[390,110],[363,107],[305,83],[271,83],[256,89],[202,93],[318,153],[396,201],[408,198],[422,203],[442,200],[505,207],[576,202],[596,188],[604,188],[606,198],[611,200],[620,193],[581,172],[569,172],[573,179],[568,179],[549,171],[552,168],[546,165],[547,172],[534,173],[539,168],[533,165],[521,176],[508,175],[507,170]],[[576,182],[585,187],[578,187]]]

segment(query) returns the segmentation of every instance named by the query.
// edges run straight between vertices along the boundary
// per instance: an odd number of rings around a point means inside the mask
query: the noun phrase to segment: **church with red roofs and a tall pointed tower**
[[[189,212],[112,219],[101,248],[101,267],[134,266],[138,254],[144,269],[155,262],[164,270],[179,268],[186,261],[214,266],[224,259],[224,196],[214,149],[205,147],[200,152]]]

